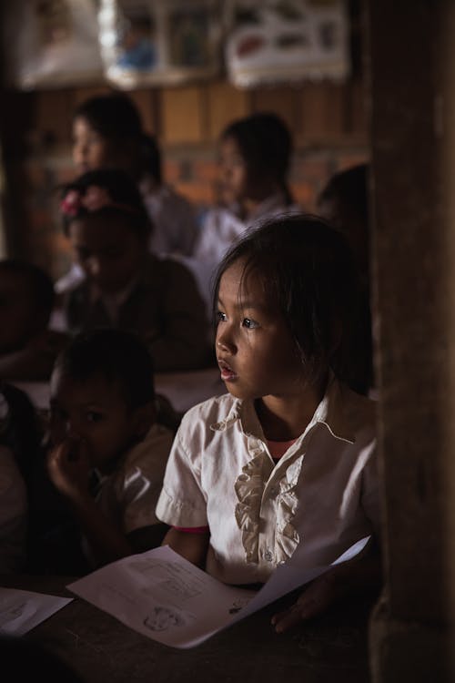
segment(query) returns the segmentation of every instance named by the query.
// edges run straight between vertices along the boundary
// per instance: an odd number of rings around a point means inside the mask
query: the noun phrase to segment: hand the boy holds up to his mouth
[[[47,455],[47,471],[61,494],[76,498],[88,493],[90,463],[86,443],[66,439]]]

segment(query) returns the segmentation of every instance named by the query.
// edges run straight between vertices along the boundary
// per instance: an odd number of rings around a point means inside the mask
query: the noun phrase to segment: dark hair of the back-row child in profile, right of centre
[[[291,204],[288,171],[293,147],[285,122],[273,113],[252,114],[229,124],[221,134],[221,139],[226,138],[236,140],[248,174],[273,178]]]

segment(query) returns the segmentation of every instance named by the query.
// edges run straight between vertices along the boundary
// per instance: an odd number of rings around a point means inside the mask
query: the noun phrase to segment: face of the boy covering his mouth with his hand
[[[119,387],[95,375],[84,382],[51,377],[51,439],[83,441],[90,464],[103,470],[144,435],[140,410],[129,409]],[[108,467],[107,467],[108,469]]]

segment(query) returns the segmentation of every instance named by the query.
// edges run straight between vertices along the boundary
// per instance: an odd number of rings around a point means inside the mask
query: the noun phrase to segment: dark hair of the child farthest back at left
[[[161,185],[161,152],[157,138],[144,132],[140,113],[130,97],[122,93],[89,97],[76,108],[73,118],[78,117],[85,118],[102,138],[122,148],[128,145],[131,154],[137,157],[139,177],[149,174],[157,185]]]

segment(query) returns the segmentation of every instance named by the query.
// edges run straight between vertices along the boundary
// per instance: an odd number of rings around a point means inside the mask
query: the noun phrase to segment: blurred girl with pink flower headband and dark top
[[[68,330],[136,331],[158,372],[207,365],[207,319],[196,283],[176,260],[148,251],[152,226],[126,171],[77,178],[64,189],[61,214],[85,275],[64,294]]]

